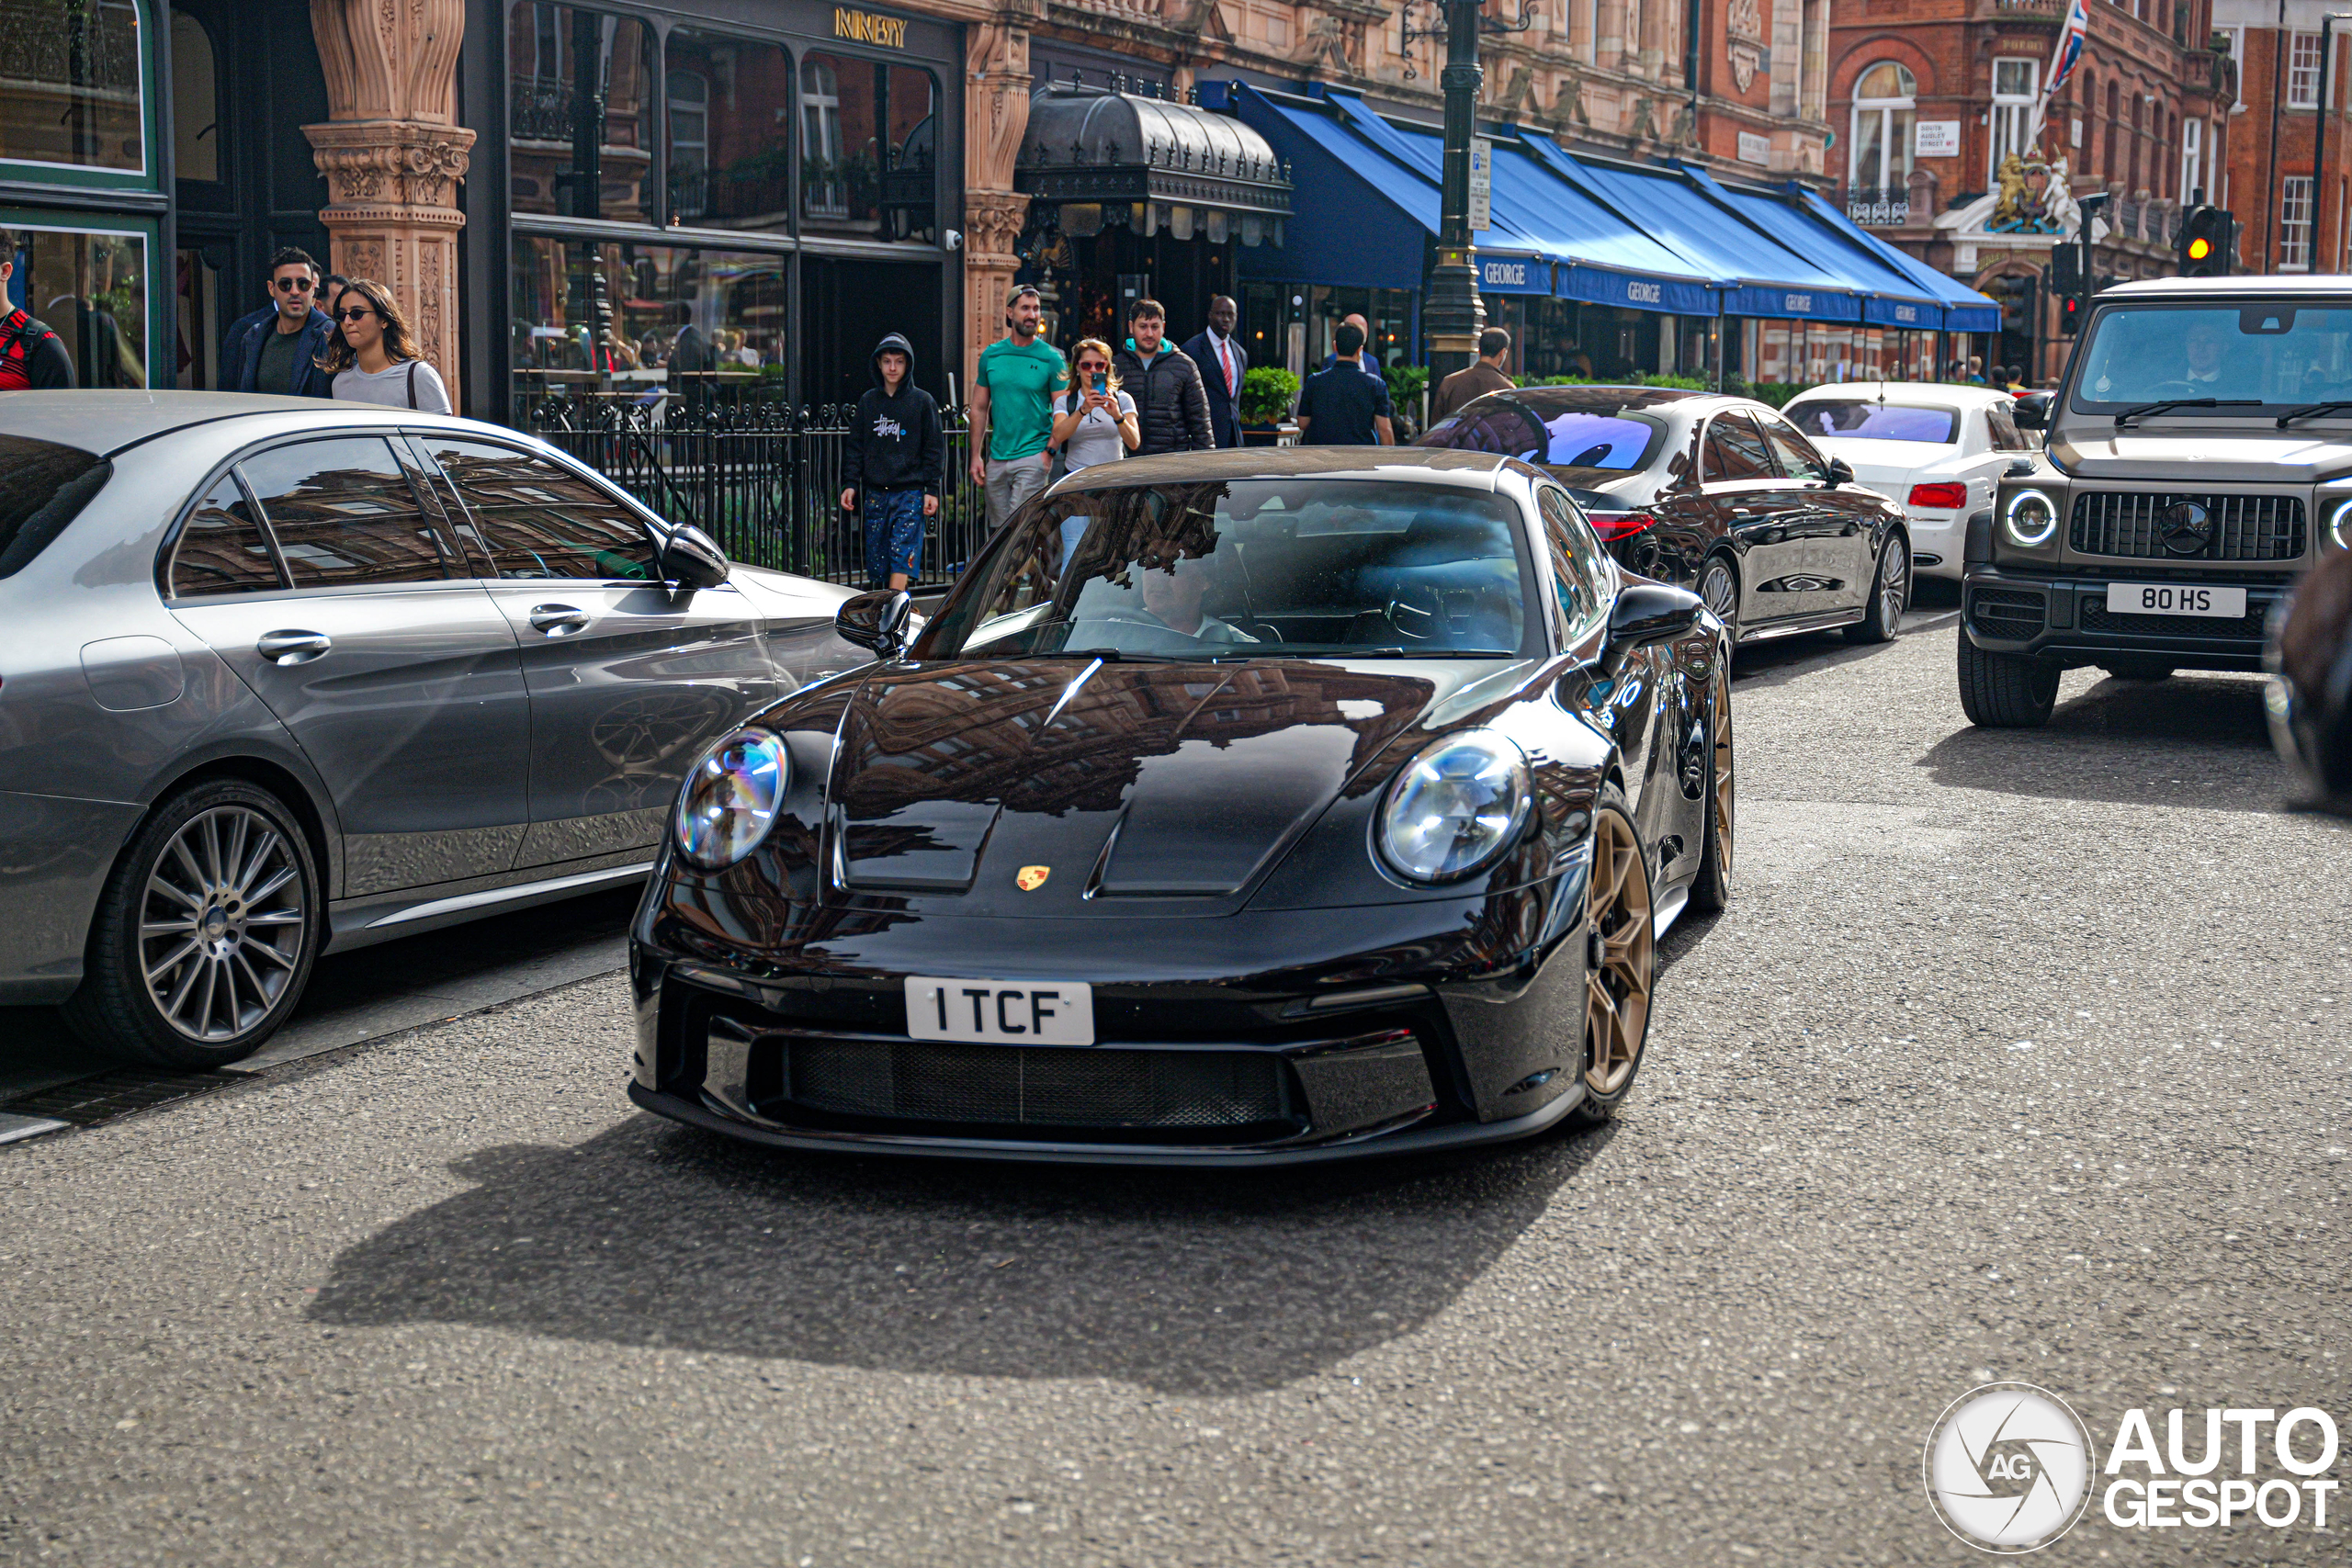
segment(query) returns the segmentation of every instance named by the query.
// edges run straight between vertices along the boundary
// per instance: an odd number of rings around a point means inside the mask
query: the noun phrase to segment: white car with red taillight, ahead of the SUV
[[[1957,583],[1969,512],[1990,508],[2002,470],[2037,449],[2011,418],[2013,402],[1987,386],[1846,381],[1790,397],[1783,414],[1903,508],[1912,571]]]

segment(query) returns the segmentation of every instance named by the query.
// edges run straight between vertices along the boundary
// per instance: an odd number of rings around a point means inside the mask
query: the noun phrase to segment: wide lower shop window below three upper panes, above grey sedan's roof
[[[783,386],[783,256],[517,235],[510,289],[517,416],[548,395]]]

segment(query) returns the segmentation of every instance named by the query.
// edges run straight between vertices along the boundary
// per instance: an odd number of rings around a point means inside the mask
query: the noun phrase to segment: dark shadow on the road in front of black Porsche
[[[508,1145],[334,1262],[310,1316],[1242,1394],[1425,1324],[1613,1128],[1291,1171],[757,1150],[654,1117]]]

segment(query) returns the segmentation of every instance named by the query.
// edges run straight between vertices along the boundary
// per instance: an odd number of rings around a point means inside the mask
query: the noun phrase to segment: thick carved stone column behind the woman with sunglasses
[[[374,277],[459,400],[456,183],[473,132],[456,125],[463,0],[310,0],[327,125],[306,125],[327,176],[332,268]],[[463,409],[461,409],[463,411]]]

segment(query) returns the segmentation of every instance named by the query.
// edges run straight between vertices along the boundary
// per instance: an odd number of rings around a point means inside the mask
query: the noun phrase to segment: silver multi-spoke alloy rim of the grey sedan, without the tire
[[[148,875],[139,971],[165,1023],[216,1046],[278,1006],[306,929],[294,846],[259,811],[214,806]]]

